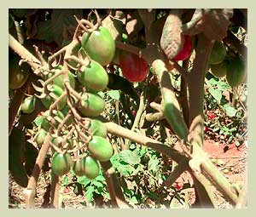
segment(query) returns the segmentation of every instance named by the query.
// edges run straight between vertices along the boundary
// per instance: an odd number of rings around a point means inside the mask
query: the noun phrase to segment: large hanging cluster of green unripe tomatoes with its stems
[[[84,52],[80,52],[81,50]],[[57,147],[57,150],[59,150],[55,151],[52,156],[51,168],[59,176],[67,174],[73,168],[73,172],[76,175],[85,175],[89,179],[94,179],[100,173],[99,162],[106,162],[113,156],[113,147],[106,139],[107,128],[97,119],[105,107],[105,102],[98,92],[106,89],[108,86],[108,73],[104,66],[107,66],[113,60],[115,54],[113,37],[108,29],[103,26],[90,33],[85,32],[81,44],[73,49],[73,54],[78,53],[84,54],[84,58],[89,58],[89,64],[79,66],[76,71],[68,71],[68,79],[70,87],[78,91],[81,96],[80,102],[75,104],[75,109],[81,117],[86,117],[86,120],[90,120],[87,132],[85,132],[90,140],[85,144],[84,149],[79,148],[84,146],[84,142],[77,140],[74,135],[63,142],[63,138],[69,132],[69,126],[75,123],[75,117],[71,116],[65,122],[66,130],[62,132],[63,137],[50,139],[52,146]],[[70,65],[73,64],[73,66],[76,65],[75,62],[68,63]],[[63,66],[57,66],[44,77],[44,80],[51,79],[62,69]],[[23,76],[24,74],[21,73],[21,75]],[[20,88],[26,82],[27,76],[23,77],[24,81],[20,83],[19,87],[16,85],[15,89]],[[14,87],[10,88],[13,89]],[[20,105],[20,112],[23,114],[31,114],[35,111],[38,100],[41,100],[40,103],[47,109],[42,115],[42,122],[38,133],[34,136],[34,140],[39,147],[44,144],[50,128],[58,128],[61,121],[70,112],[70,107],[67,106],[67,95],[64,93],[64,75],[61,74],[52,79],[52,82],[47,85],[47,90],[42,89],[41,94],[44,95],[42,99],[31,95],[26,97]],[[49,107],[61,95],[64,96],[61,97],[61,100],[58,100],[55,110],[52,110],[52,113],[49,114]],[[79,152],[77,151],[78,149]]]

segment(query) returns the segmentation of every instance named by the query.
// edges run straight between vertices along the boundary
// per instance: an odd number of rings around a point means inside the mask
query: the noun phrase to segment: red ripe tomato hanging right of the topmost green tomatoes
[[[143,82],[148,75],[148,63],[137,54],[120,52],[119,66],[130,82]]]

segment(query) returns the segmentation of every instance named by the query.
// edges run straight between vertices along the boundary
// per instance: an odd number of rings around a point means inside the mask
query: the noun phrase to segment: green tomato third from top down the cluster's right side
[[[99,94],[84,93],[82,99],[78,109],[85,117],[97,117],[104,110],[105,102]]]

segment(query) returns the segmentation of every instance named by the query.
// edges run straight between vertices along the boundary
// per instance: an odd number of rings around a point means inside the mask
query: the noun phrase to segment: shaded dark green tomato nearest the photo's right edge
[[[237,87],[245,82],[247,76],[246,64],[241,58],[236,57],[229,60],[227,65],[227,81],[231,87]]]

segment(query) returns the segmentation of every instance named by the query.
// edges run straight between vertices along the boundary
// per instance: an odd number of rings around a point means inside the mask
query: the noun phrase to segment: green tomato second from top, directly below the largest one
[[[87,89],[94,92],[102,91],[108,85],[108,73],[95,60],[91,60],[83,71],[78,73],[79,82]]]

